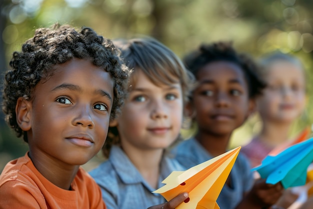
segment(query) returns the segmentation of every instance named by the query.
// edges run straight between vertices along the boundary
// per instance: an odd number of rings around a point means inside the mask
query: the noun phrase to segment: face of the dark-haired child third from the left
[[[200,69],[196,79],[191,108],[199,131],[230,134],[252,109],[242,70],[234,63],[218,61]]]

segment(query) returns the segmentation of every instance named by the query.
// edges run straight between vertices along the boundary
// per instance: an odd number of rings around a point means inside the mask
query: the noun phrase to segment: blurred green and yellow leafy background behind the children
[[[255,58],[280,50],[303,62],[307,107],[294,122],[290,133],[294,135],[311,126],[313,119],[312,11],[311,0],[0,0],[0,88],[11,54],[20,51],[36,28],[57,22],[88,26],[109,39],[152,36],[181,58],[201,43],[233,41],[238,51]],[[3,118],[1,112],[0,171],[27,150]],[[258,128],[257,115],[251,116],[235,131],[230,146],[246,143]],[[84,167],[89,170],[101,160],[98,154]]]

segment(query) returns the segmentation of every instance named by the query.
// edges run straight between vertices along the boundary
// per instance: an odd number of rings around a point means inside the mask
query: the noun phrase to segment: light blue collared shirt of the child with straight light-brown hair
[[[183,167],[175,159],[163,157],[158,188],[164,185],[161,181],[174,170],[183,170]],[[162,195],[152,193],[156,188],[146,182],[118,146],[113,146],[108,160],[89,174],[100,186],[107,209],[145,209],[166,202]]]

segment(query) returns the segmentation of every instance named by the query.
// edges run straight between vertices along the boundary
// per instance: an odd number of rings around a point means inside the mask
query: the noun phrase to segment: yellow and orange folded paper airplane
[[[189,197],[176,209],[219,209],[216,199],[240,148],[239,146],[185,171],[173,171],[162,181],[165,185],[153,193],[160,193],[169,201],[182,192],[188,192]]]

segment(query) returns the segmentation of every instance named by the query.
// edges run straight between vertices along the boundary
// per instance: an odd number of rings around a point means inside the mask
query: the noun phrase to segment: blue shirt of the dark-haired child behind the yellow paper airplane
[[[177,161],[185,169],[213,158],[204,147],[194,138],[182,141],[172,149]],[[253,173],[250,171],[248,159],[243,154],[238,154],[230,171],[232,187],[224,185],[216,202],[220,209],[233,209],[242,200],[244,192],[251,189]]]

